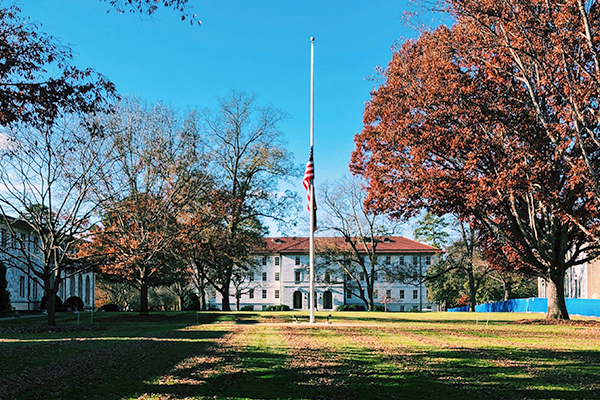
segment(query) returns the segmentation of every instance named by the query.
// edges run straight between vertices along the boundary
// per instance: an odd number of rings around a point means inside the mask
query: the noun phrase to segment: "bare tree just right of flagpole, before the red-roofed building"
[[[342,178],[321,186],[320,229],[343,237],[348,246],[340,248],[335,241],[329,244],[321,241],[323,244],[317,251],[322,260],[319,269],[332,276],[345,276],[346,290],[372,311],[378,274],[385,274],[390,281],[403,281],[413,274],[400,265],[386,265],[380,259],[379,244],[385,236],[394,235],[400,225],[383,213],[365,208],[366,192],[362,185],[358,178]]]

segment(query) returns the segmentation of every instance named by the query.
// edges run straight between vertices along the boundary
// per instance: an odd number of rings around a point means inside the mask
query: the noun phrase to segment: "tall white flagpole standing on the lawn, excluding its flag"
[[[315,38],[310,38],[310,148],[314,145],[314,128],[315,128]],[[314,179],[310,183],[310,323],[315,323],[315,184]]]

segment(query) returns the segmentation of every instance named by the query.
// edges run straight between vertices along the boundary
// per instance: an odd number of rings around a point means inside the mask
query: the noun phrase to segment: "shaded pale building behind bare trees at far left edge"
[[[39,310],[45,294],[43,282],[33,274],[27,264],[19,261],[19,255],[22,254],[21,246],[24,246],[32,259],[39,259],[40,238],[23,221],[14,220],[11,225],[12,229],[9,229],[0,219],[0,262],[6,267],[10,304],[16,310]],[[58,296],[63,302],[69,297],[77,296],[81,298],[86,309],[93,307],[94,274],[77,273],[64,279],[60,283]]]

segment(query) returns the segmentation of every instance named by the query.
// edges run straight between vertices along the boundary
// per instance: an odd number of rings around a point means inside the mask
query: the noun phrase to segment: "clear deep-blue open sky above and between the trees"
[[[27,0],[23,14],[69,45],[121,95],[175,107],[215,108],[230,89],[290,115],[281,125],[297,164],[309,150],[310,37],[315,37],[315,184],[348,174],[377,66],[417,33],[401,1],[190,0],[202,26],[161,8],[118,14],[99,0]],[[107,13],[107,11],[110,11]],[[370,79],[371,78],[371,79]],[[300,179],[293,188],[303,193]],[[272,232],[274,233],[274,232]]]

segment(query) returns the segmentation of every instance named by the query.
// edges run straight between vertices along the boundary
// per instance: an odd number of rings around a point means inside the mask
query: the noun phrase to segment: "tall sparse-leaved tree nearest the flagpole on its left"
[[[232,276],[238,268],[247,269],[248,257],[263,245],[265,219],[289,223],[297,196],[289,191],[279,194],[277,187],[298,171],[279,130],[284,113],[261,107],[255,95],[237,91],[219,99],[219,105],[218,113],[205,113],[202,135],[210,160],[207,171],[214,182],[213,200],[190,219],[212,222],[208,227],[189,225],[188,236],[196,240],[190,248],[199,249],[190,262],[221,294],[222,308],[229,311]]]

